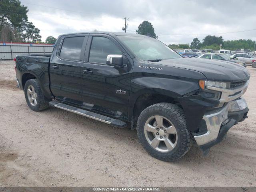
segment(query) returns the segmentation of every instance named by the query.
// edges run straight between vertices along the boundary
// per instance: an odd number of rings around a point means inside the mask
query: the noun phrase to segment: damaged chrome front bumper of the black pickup
[[[245,108],[247,108],[246,101],[244,98],[240,98],[228,102],[222,108],[216,108],[206,112],[203,120],[206,122],[207,132],[202,135],[194,136],[196,143],[200,146],[216,140],[220,132],[220,127],[222,124],[228,122],[228,112],[238,112]]]

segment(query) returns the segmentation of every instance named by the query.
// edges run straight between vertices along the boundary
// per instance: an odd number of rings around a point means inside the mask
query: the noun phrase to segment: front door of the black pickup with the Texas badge
[[[121,54],[124,66],[107,65],[110,54]],[[111,36],[90,34],[81,71],[83,108],[126,119],[132,60],[120,44]]]

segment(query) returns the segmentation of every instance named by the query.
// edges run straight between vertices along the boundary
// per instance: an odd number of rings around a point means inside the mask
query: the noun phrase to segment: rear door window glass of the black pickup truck
[[[60,50],[60,57],[63,59],[79,60],[83,42],[84,36],[64,38]]]

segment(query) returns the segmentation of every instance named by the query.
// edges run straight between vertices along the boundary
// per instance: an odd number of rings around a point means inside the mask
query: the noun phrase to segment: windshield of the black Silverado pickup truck
[[[138,57],[143,60],[164,60],[182,58],[162,42],[144,36],[118,36],[118,38]]]

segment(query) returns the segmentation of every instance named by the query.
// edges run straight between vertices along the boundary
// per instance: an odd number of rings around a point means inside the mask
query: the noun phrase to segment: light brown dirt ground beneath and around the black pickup
[[[58,108],[30,110],[14,62],[0,62],[0,186],[256,186],[256,69],[244,95],[249,118],[202,156],[148,155],[136,131]]]

